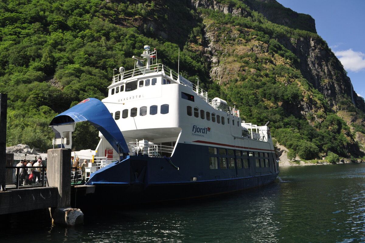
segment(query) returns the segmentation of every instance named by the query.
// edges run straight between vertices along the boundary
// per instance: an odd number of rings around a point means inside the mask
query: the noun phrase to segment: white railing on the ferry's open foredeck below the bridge
[[[139,142],[129,142],[128,148],[131,151],[130,155],[137,156],[148,156],[148,157],[171,157],[174,150],[173,146],[166,146],[154,143],[139,143]]]

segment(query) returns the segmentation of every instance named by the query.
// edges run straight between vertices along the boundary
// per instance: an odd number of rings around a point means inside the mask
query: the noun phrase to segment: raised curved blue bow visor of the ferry
[[[55,116],[49,126],[55,132],[56,138],[66,138],[66,142],[62,143],[62,147],[70,149],[75,124],[85,121],[95,126],[116,152],[123,154],[129,152],[126,140],[110,115],[108,108],[103,102],[95,98],[87,98]]]

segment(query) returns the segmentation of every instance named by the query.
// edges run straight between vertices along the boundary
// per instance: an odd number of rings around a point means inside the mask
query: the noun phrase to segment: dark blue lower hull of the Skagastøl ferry
[[[273,182],[278,175],[277,162],[270,154],[270,166],[256,168],[210,169],[208,146],[178,144],[174,156],[154,158],[127,156],[93,173],[88,185],[95,193],[88,200],[132,204],[204,197],[243,190]],[[236,157],[236,156],[224,156]],[[177,169],[178,167],[178,169]]]

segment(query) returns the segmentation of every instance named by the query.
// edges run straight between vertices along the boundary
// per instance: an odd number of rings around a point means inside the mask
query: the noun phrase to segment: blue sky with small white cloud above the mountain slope
[[[276,0],[315,19],[317,34],[341,61],[356,93],[365,98],[365,0]]]

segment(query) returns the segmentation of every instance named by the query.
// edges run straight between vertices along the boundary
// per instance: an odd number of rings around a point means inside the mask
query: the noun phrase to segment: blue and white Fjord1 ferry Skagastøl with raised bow
[[[239,111],[157,63],[145,46],[135,68],[120,67],[108,97],[88,98],[54,117],[56,137],[88,121],[99,129],[89,167],[93,202],[159,202],[223,194],[272,183],[279,173],[267,124],[242,121]],[[115,71],[114,70],[114,71]],[[73,124],[65,132],[63,125]],[[69,132],[69,133],[68,133]],[[65,135],[69,134],[69,135]]]

